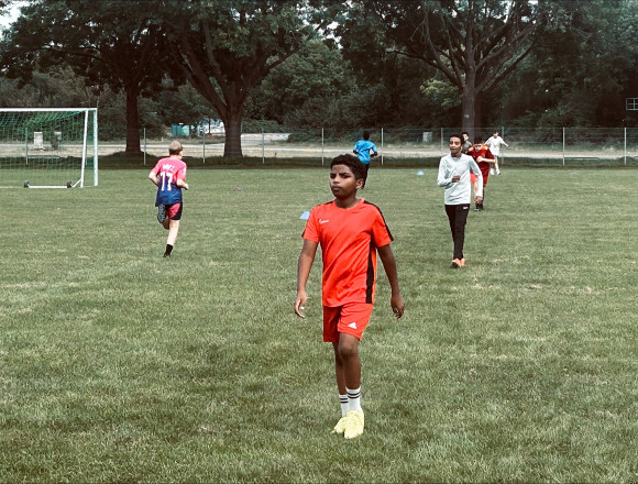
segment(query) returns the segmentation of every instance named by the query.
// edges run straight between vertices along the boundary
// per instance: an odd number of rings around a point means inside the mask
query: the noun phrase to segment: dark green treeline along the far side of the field
[[[141,127],[204,117],[227,133],[638,124],[631,0],[90,4],[28,2],[0,44],[1,107],[98,107],[130,151]]]

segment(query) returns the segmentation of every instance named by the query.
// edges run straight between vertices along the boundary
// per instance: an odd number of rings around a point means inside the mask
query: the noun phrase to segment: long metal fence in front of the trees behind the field
[[[638,166],[638,128],[509,128],[476,130],[461,128],[381,128],[367,129],[376,144],[375,163],[387,166],[433,164],[449,153],[450,135],[468,131],[470,139],[487,140],[494,129],[508,144],[502,147],[499,163],[525,166]],[[300,161],[329,164],[343,153],[352,153],[362,130],[339,131],[330,128],[290,130],[284,133],[244,132],[242,151],[233,154],[257,158],[261,163]],[[143,151],[152,156],[166,154],[169,139],[143,141]],[[182,140],[185,155],[201,157],[202,163],[219,163],[224,153],[223,133]],[[100,153],[121,145],[100,144]]]

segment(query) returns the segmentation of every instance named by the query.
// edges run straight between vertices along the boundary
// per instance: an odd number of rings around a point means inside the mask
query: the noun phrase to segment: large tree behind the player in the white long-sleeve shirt
[[[435,67],[457,87],[463,128],[479,125],[481,99],[531,52],[542,9],[529,0],[363,1],[393,52]]]

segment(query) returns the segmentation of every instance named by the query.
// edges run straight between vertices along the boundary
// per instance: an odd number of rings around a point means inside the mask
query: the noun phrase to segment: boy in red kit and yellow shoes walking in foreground
[[[330,189],[334,200],[315,207],[304,231],[304,248],[297,268],[295,314],[305,318],[306,283],[321,245],[323,275],[323,341],[331,342],[341,419],[333,429],[346,439],[363,433],[361,362],[359,342],[370,322],[375,296],[376,252],[389,280],[391,306],[397,318],[405,304],[398,287],[396,261],[389,246],[393,238],[381,210],[356,198],[365,168],[352,155],[337,156],[330,165]]]

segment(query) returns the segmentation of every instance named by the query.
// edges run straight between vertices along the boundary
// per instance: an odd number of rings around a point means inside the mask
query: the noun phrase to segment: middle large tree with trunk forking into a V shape
[[[226,127],[224,156],[242,156],[243,106],[264,78],[298,52],[339,2],[179,0],[170,13],[172,52]]]

